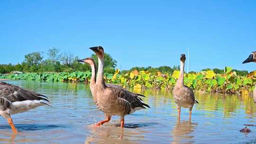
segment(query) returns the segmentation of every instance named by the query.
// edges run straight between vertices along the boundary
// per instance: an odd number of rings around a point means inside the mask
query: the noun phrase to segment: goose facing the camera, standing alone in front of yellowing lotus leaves
[[[191,119],[192,108],[194,103],[198,103],[195,100],[194,92],[184,85],[184,63],[186,60],[185,54],[181,54],[180,76],[175,84],[173,95],[174,101],[178,108],[179,117],[181,117],[181,107],[189,108],[189,119]]]

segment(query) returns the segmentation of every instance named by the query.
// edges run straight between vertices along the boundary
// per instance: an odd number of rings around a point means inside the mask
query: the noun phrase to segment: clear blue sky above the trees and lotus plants
[[[178,65],[190,71],[256,70],[256,0],[1,0],[0,63],[57,47],[80,58],[102,45],[118,68]],[[47,58],[46,53],[44,54]]]

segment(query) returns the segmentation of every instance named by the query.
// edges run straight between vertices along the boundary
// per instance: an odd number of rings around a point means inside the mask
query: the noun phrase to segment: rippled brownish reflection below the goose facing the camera
[[[192,134],[197,125],[197,123],[192,123],[191,120],[181,121],[180,118],[178,118],[177,122],[175,123],[174,129],[171,133],[174,137],[174,142],[172,144],[194,143],[194,136],[190,134]]]

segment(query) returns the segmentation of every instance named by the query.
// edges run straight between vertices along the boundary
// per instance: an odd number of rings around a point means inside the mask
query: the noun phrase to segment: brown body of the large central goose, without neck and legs
[[[119,88],[113,84],[106,84],[105,87],[97,86],[94,93],[97,96],[97,107],[110,116],[121,116],[132,114],[136,110],[148,107],[142,102],[143,95]],[[98,92],[100,91],[100,92]]]

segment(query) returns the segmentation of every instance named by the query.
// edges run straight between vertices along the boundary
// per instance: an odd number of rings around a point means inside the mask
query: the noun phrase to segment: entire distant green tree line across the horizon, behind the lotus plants
[[[53,47],[47,51],[47,58],[44,59],[42,56],[43,53],[34,52],[30,54],[26,54],[24,57],[24,61],[21,64],[0,64],[0,73],[11,73],[14,71],[19,72],[86,72],[91,71],[91,68],[88,64],[79,63],[78,56],[74,56],[72,53],[60,53],[60,50]],[[98,64],[98,58],[95,54],[91,54],[91,58],[94,59],[95,63]],[[117,66],[117,61],[112,58],[110,54],[105,54],[104,58],[104,72],[106,73],[115,73],[115,69]],[[160,66],[157,68],[153,68],[151,66],[148,67],[132,67],[130,70],[123,70],[121,73],[131,72],[133,70],[137,71],[149,71],[149,72],[162,72],[162,73],[170,73],[172,74],[175,70],[179,71],[180,66],[174,65],[170,66]],[[201,71],[209,71],[211,69],[202,69]],[[224,70],[222,69],[212,69],[213,72],[224,74]],[[239,71],[233,70],[237,72],[238,75],[244,76],[248,73],[248,71]],[[196,73],[196,72],[189,72]]]

